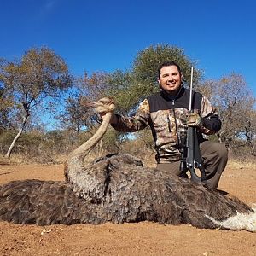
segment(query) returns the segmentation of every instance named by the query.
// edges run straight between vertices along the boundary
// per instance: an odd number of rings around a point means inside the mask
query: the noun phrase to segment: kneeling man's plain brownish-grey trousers
[[[228,151],[222,143],[205,141],[200,143],[201,158],[207,175],[207,186],[217,189],[218,182],[228,161]],[[163,172],[180,175],[180,161],[157,164],[156,168]]]

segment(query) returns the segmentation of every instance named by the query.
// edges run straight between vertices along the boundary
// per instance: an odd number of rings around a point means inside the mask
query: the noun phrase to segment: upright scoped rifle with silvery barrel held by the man
[[[192,110],[192,91],[193,89],[193,67],[191,67],[191,80],[189,90],[189,113],[193,113]],[[180,134],[180,152],[181,152],[181,163],[180,171],[181,177],[186,176],[186,172],[189,170],[191,180],[195,182],[201,182],[207,184],[207,177],[203,161],[201,159],[200,148],[197,138],[196,127],[189,126],[188,131],[182,131]],[[201,177],[195,172],[195,168],[201,172]]]

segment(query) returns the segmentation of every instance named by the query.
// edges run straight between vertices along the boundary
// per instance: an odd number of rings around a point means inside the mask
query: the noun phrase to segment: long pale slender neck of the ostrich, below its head
[[[96,146],[96,144],[101,140],[102,136],[107,131],[111,117],[112,113],[106,113],[104,118],[102,118],[102,125],[99,127],[96,133],[90,137],[88,141],[79,146],[79,148],[73,150],[69,159],[78,158],[79,160],[84,160],[84,157],[89,154],[90,150]]]

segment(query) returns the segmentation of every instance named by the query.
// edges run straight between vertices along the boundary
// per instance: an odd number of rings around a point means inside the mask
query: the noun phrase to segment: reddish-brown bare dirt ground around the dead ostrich
[[[62,180],[63,166],[5,165],[0,183]],[[256,166],[229,165],[219,189],[256,203]],[[0,255],[256,255],[256,233],[138,224],[19,225],[0,222]]]

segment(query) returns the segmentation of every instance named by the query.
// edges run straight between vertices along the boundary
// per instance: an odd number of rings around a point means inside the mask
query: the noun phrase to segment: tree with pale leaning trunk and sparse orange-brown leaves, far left
[[[72,84],[67,64],[51,49],[29,49],[19,61],[1,61],[0,81],[14,99],[20,129],[6,154],[10,156],[34,108],[50,104]]]

